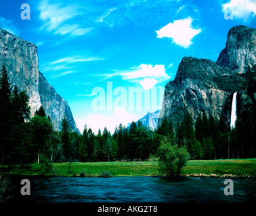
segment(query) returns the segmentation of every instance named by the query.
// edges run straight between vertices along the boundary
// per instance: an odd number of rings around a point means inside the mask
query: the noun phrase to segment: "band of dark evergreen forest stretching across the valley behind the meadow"
[[[250,86],[250,83],[248,84]],[[248,88],[250,89],[250,88]],[[199,115],[193,122],[190,113],[177,125],[163,118],[151,130],[133,121],[129,128],[119,124],[113,134],[107,128],[94,134],[85,128],[83,134],[72,132],[66,117],[62,130],[56,131],[41,106],[33,116],[28,95],[8,81],[5,66],[0,76],[0,163],[26,167],[31,163],[145,161],[157,159],[161,140],[186,146],[190,159],[232,159],[255,157],[256,111],[246,119],[238,117],[230,128],[224,119]]]

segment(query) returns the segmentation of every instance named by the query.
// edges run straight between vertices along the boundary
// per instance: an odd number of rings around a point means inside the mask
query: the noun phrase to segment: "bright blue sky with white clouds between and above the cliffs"
[[[182,58],[217,61],[240,24],[256,28],[255,0],[0,0],[0,28],[37,45],[40,72],[95,134],[161,109]]]

